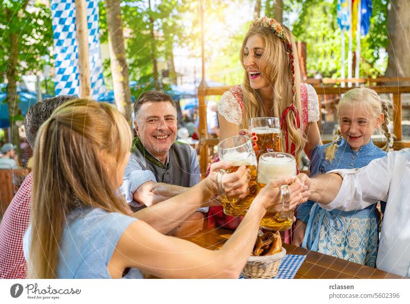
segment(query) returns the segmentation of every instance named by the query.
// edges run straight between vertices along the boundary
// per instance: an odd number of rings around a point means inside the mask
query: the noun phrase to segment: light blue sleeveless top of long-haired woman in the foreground
[[[111,278],[107,266],[119,238],[137,221],[131,216],[100,208],[78,208],[65,222],[60,242],[57,278]],[[26,260],[30,248],[30,230],[23,239]],[[30,265],[29,265],[30,267]],[[130,268],[123,278],[144,278],[140,270]]]

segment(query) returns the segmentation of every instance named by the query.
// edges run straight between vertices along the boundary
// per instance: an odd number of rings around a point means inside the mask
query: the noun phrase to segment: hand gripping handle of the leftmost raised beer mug
[[[227,170],[230,167],[227,161],[219,161],[211,165],[209,176],[205,179],[208,188],[214,194],[225,194],[229,198],[244,198],[249,191],[249,181],[251,179],[251,171],[245,166],[240,166],[238,170],[231,173],[219,172]],[[219,193],[218,175],[220,180],[221,192]]]

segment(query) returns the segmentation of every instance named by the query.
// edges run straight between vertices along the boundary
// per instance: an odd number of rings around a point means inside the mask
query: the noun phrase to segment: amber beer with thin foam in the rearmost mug
[[[251,130],[256,133],[258,140],[256,141],[256,156],[266,152],[282,151],[282,140],[280,129],[268,127],[256,127]]]

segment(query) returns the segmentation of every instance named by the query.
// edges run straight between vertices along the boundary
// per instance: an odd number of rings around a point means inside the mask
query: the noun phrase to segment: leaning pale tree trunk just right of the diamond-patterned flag
[[[108,42],[110,47],[111,74],[114,86],[115,104],[131,125],[131,92],[128,65],[122,34],[122,18],[119,0],[106,0]]]

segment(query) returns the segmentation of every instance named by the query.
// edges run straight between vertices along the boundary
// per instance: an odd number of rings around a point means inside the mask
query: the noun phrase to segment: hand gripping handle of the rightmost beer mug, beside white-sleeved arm
[[[279,213],[282,209],[281,200],[281,185],[289,185],[289,200],[290,203],[284,206],[283,211],[287,212],[295,208],[297,205],[308,201],[310,191],[308,186],[305,186],[298,177],[288,177],[277,180],[272,180],[268,185],[263,187],[255,201],[262,204],[265,210],[269,212]]]

